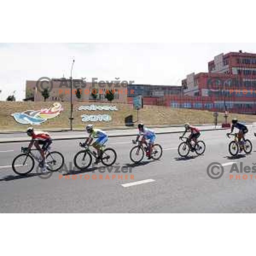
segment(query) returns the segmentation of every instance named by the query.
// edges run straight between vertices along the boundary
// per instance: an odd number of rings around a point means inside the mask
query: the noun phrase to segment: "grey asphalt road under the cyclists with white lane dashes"
[[[255,175],[252,180],[253,173],[247,174],[247,180],[243,180],[243,174],[241,180],[230,180],[232,163],[253,166],[256,151],[231,158],[226,133],[204,132],[205,154],[195,157],[192,153],[189,159],[177,154],[178,134],[157,135],[157,143],[164,149],[162,159],[145,159],[138,166],[129,159],[133,137],[110,138],[109,146],[116,149],[119,166],[131,168],[128,174],[113,173],[114,169],[111,174],[102,174],[97,168],[72,172],[70,163],[80,150],[79,141],[55,141],[52,150],[64,154],[68,171],[76,176],[57,172],[47,180],[39,178],[35,171],[27,177],[12,171],[13,158],[27,143],[0,144],[0,212],[256,212]],[[247,137],[256,147],[253,131]],[[224,164],[224,175],[218,180],[207,175],[207,166],[212,162]]]

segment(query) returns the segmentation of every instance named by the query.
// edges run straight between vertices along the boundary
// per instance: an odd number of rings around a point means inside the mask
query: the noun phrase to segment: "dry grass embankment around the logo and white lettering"
[[[52,102],[0,102],[0,131],[24,131],[29,125],[20,125],[15,122],[11,116],[12,113],[23,112],[26,110],[41,110],[49,108]],[[112,117],[111,122],[96,122],[96,127],[114,128],[125,127],[125,117],[133,115],[134,121],[137,120],[137,111],[133,110],[132,105],[114,104],[118,111],[78,111],[80,105],[90,105],[93,102],[76,103],[74,105],[74,129],[82,129],[86,123],[81,122],[81,115],[109,114]],[[96,105],[104,105],[99,102]],[[109,105],[109,104],[108,104]],[[42,130],[60,130],[69,128],[70,105],[63,102],[64,111],[56,118],[49,119],[47,122],[39,125]],[[236,117],[245,122],[256,122],[256,116],[230,114],[229,121]],[[185,122],[191,124],[212,124],[214,122],[213,113],[210,111],[196,111],[189,109],[173,109],[163,106],[145,106],[139,112],[139,119],[145,125],[181,125]],[[218,123],[224,122],[224,114],[219,113]]]

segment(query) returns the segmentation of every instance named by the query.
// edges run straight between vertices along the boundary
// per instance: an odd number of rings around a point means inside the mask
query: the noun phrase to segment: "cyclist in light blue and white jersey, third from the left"
[[[148,159],[151,159],[152,147],[156,140],[156,134],[153,130],[145,128],[142,123],[138,124],[138,129],[139,129],[139,134],[137,136],[135,143],[140,139],[140,137],[142,137],[141,139],[142,142],[145,143],[148,147],[146,156],[148,157]]]

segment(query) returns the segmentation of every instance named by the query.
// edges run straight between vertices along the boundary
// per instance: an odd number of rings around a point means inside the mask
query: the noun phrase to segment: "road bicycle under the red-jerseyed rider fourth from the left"
[[[178,153],[180,157],[187,157],[190,151],[195,152],[199,156],[204,154],[206,148],[204,141],[199,140],[194,145],[192,145],[191,140],[188,137],[181,137],[180,140],[186,140],[180,143],[178,147]]]

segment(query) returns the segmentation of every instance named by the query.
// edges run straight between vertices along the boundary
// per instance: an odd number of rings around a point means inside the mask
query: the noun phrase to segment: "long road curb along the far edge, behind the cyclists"
[[[216,129],[201,129],[200,131],[220,131],[220,130],[225,130],[223,128],[216,128]],[[156,132],[156,134],[180,134],[183,133],[184,131],[166,131],[166,132]],[[134,134],[124,134],[124,135],[109,135],[109,138],[117,138],[117,137],[133,137],[137,136],[138,133]],[[87,137],[72,137],[72,138],[57,138],[57,139],[52,139],[53,141],[58,141],[58,140],[84,140]],[[0,144],[5,144],[5,143],[21,143],[21,142],[30,142],[31,140],[7,140],[7,141],[0,141]]]

